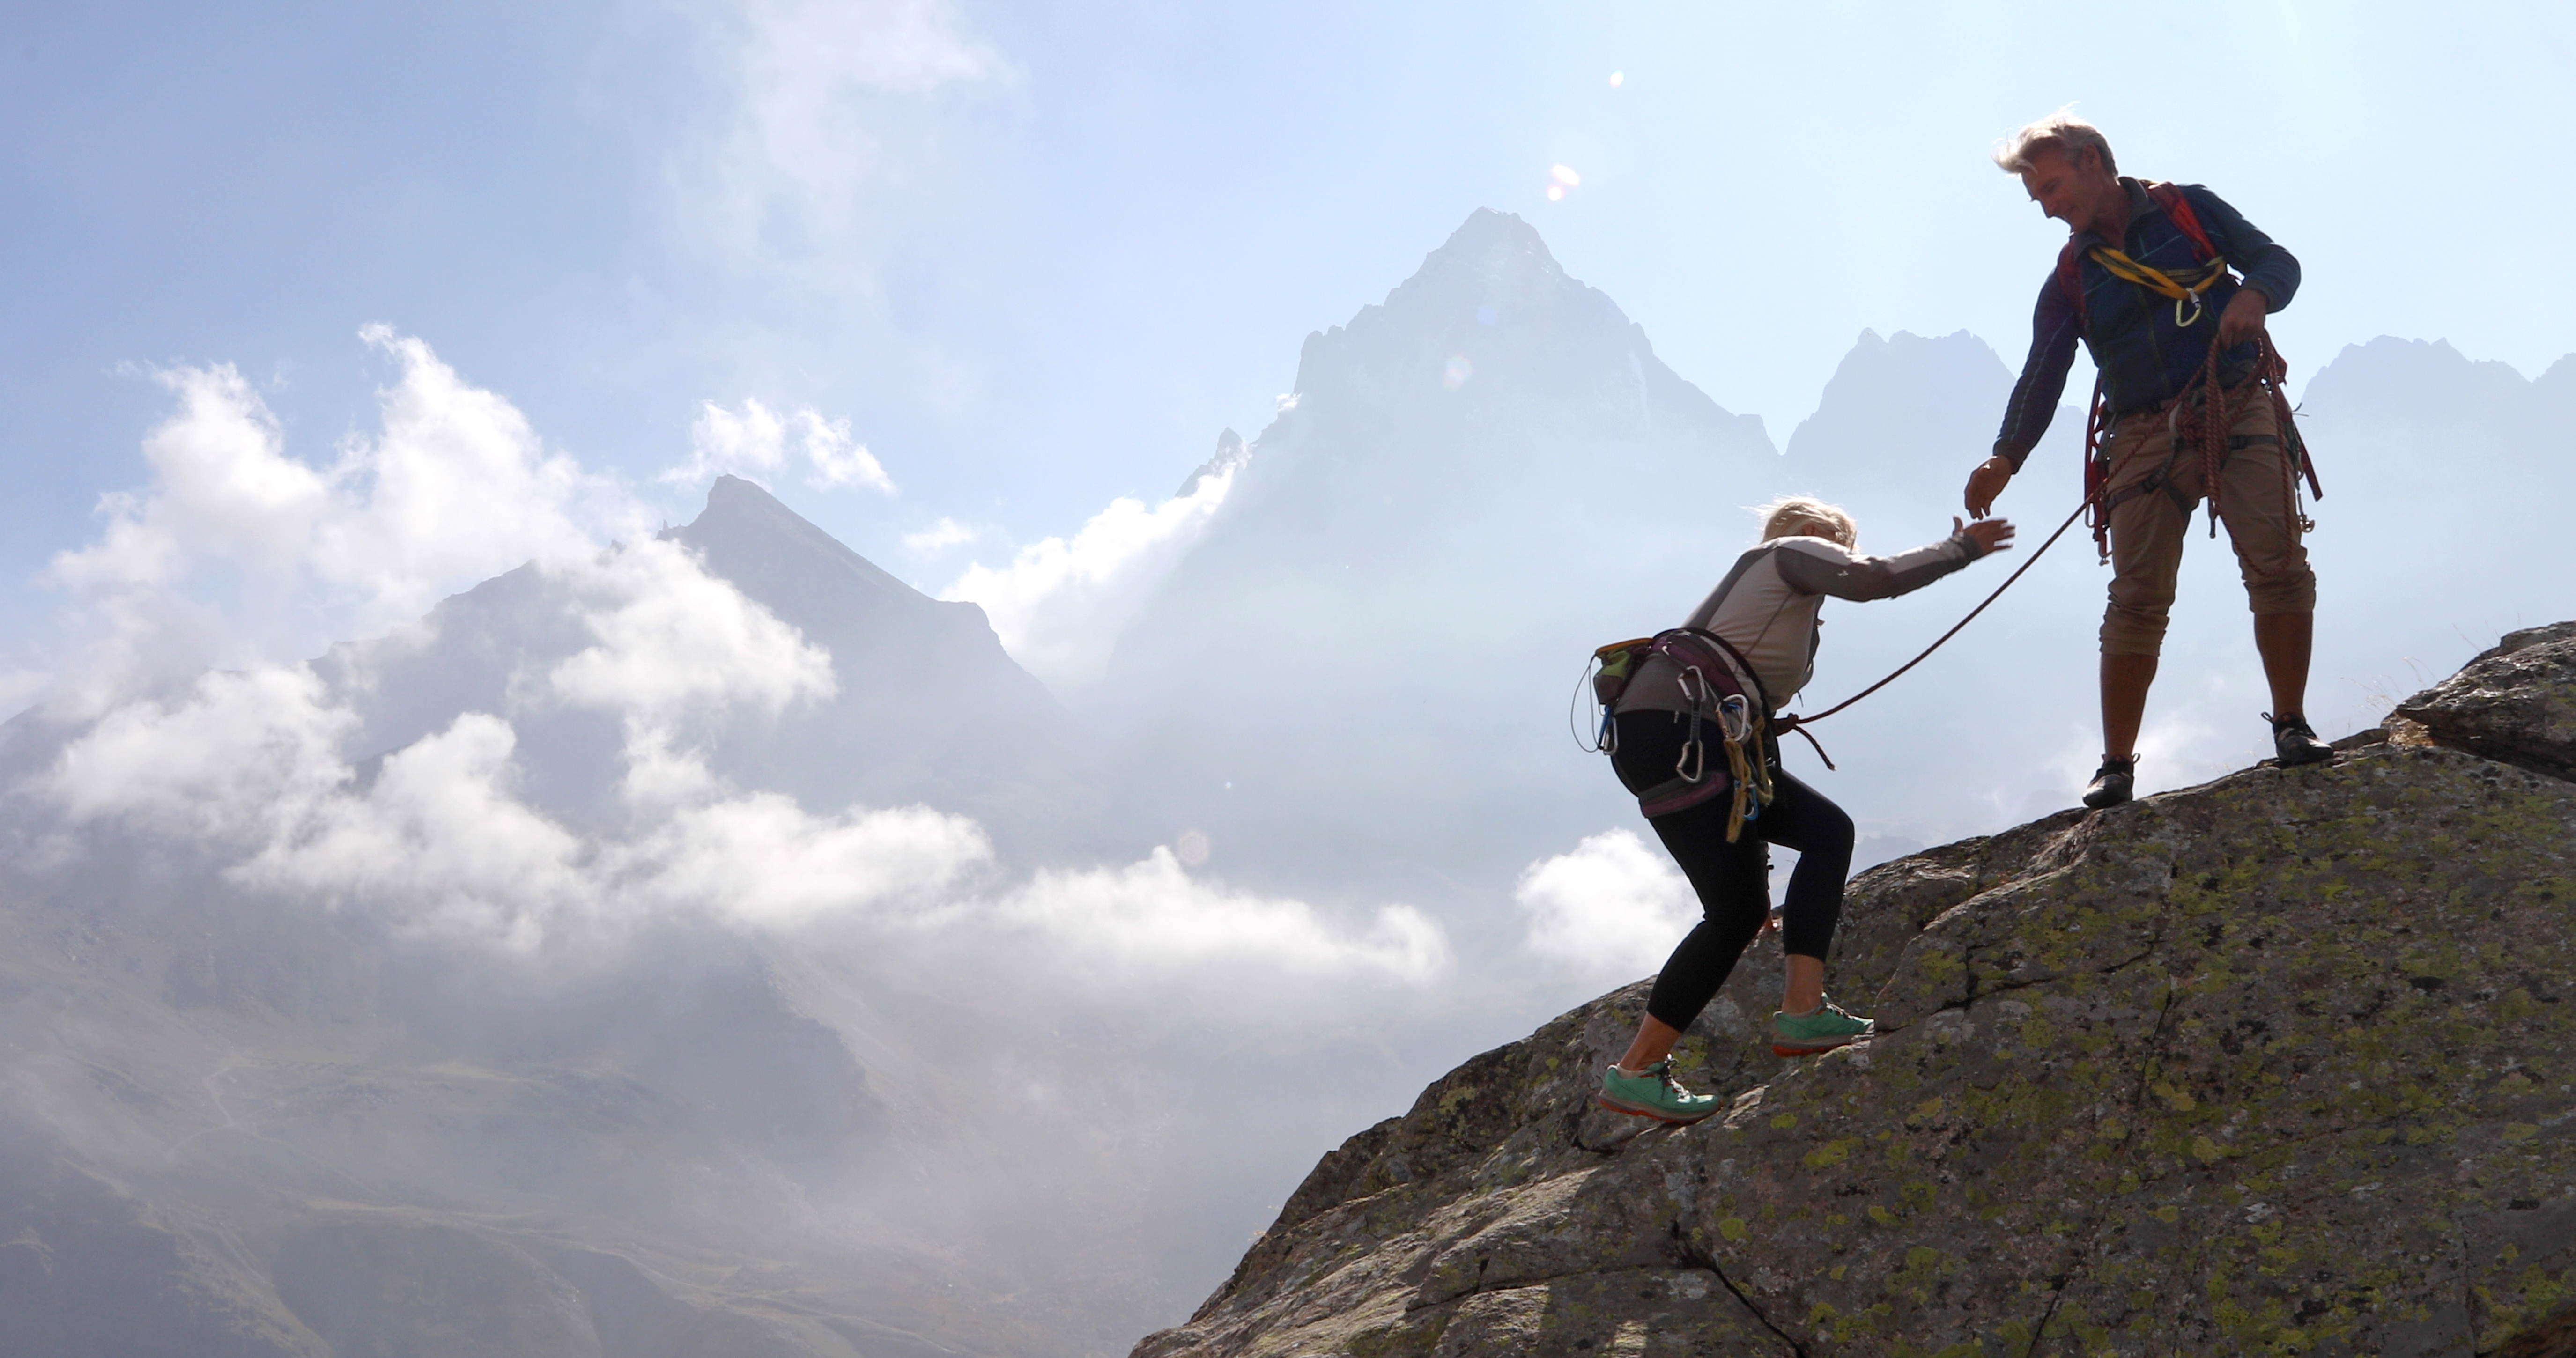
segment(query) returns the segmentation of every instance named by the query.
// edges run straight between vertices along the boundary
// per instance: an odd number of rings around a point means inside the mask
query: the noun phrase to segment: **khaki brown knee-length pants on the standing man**
[[[2246,392],[2244,410],[2228,428],[2233,438],[2262,438],[2231,448],[2218,464],[2221,518],[2236,546],[2236,569],[2246,582],[2254,613],[2316,611],[2316,572],[2298,541],[2298,508],[2290,497],[2280,425],[2264,392]],[[2102,655],[2156,655],[2164,649],[2164,618],[2174,606],[2174,575],[2182,569],[2182,533],[2190,508],[2202,500],[2200,454],[2174,451],[2174,430],[2161,410],[2123,415],[2110,438],[2112,482],[2123,490],[2166,472],[2166,484],[2130,495],[2110,510],[2110,608],[2102,611]],[[2177,502],[2179,497],[2179,502]]]

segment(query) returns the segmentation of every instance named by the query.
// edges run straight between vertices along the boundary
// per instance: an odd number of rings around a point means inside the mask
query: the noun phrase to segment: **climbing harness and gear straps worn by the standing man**
[[[2228,276],[2228,263],[2223,258],[2218,258],[2218,245],[2213,245],[2210,242],[2210,232],[2200,227],[2200,214],[2192,211],[2192,201],[2182,196],[2182,188],[2177,188],[2172,183],[2148,183],[2146,186],[2146,196],[2159,209],[2164,209],[2164,216],[2169,216],[2174,222],[2174,227],[2182,229],[2184,237],[2190,237],[2192,253],[2200,255],[2197,265],[2192,265],[2187,271],[2179,271],[2179,273],[2166,273],[2161,268],[2143,265],[2143,263],[2123,255],[2120,250],[2112,250],[2110,245],[2094,245],[2092,250],[2084,250],[2084,255],[2092,255],[2092,260],[2099,263],[2102,268],[2107,268],[2112,273],[2112,278],[2120,278],[2120,281],[2128,281],[2128,283],[2138,283],[2141,289],[2148,289],[2148,291],[2161,294],[2161,296],[2172,296],[2174,299],[2174,327],[2190,330],[2208,312],[2202,307],[2202,294],[2208,294],[2210,286],[2215,286],[2221,278]],[[2084,317],[2084,278],[2079,273],[2079,253],[2076,253],[2076,242],[2074,240],[2069,240],[2066,247],[2058,250],[2058,289],[2066,291],[2069,301],[2074,301],[2076,317]],[[2184,304],[2190,304],[2190,314],[2184,314]],[[2308,479],[2308,495],[2316,497],[2316,500],[2324,500],[2326,490],[2316,482],[2316,464],[2308,461],[2308,443],[2298,435],[2298,423],[2290,417],[2293,415],[2290,397],[2282,394],[2282,389],[2280,389],[2280,379],[2287,376],[2287,371],[2290,371],[2287,363],[2282,363],[2280,353],[2272,350],[2272,343],[2262,340],[2262,358],[2257,361],[2254,379],[2272,397],[2272,412],[2280,420],[2280,443],[2282,443],[2282,454],[2285,454],[2282,461],[2290,466],[2290,472],[2287,472],[2287,477],[2290,477],[2290,513],[2293,513],[2293,518],[2298,518],[2298,528],[2300,531],[2311,531],[2316,526],[2308,521],[2306,513],[2298,510],[2298,477]],[[2221,392],[2218,392],[2218,340],[2215,338],[2210,340],[2210,358],[2208,358],[2208,366],[2205,366],[2202,376],[2205,376],[2202,384],[2195,384],[2192,389],[2184,389],[2184,394],[2174,399],[2174,417],[2182,417],[2187,402],[2192,402],[2192,399],[2202,399],[2202,402],[2223,399]],[[2084,502],[2092,508],[2089,513],[2092,513],[2092,531],[2094,531],[2094,551],[2099,551],[2099,557],[2107,562],[2110,559],[2110,510],[2120,508],[2128,500],[2136,500],[2138,495],[2154,495],[2159,490],[2166,492],[2174,500],[2174,508],[2182,510],[2184,521],[2192,515],[2192,505],[2190,505],[2190,500],[2184,500],[2182,490],[2174,484],[2174,469],[2172,469],[2172,464],[2159,466],[2156,472],[2151,472],[2143,482],[2138,482],[2133,487],[2112,492],[2110,490],[2112,466],[2110,466],[2110,448],[2107,448],[2112,415],[2110,415],[2110,394],[2102,387],[2102,374],[2099,371],[2094,374],[2094,399],[2092,399],[2089,410],[2092,412],[2084,420]],[[2202,415],[2202,420],[2208,420],[2208,415]],[[2254,441],[2269,443],[2269,438],[2264,438],[2264,435],[2251,435],[2251,438],[2226,435],[2223,433],[2223,420],[2221,420],[2218,438],[2226,441],[2228,451],[2246,448]],[[2174,456],[2182,454],[2182,443],[2184,443],[2182,438],[2174,441]],[[2205,456],[2208,456],[2210,466],[2205,469],[2202,484],[2205,484],[2205,492],[2210,497],[2210,536],[2218,536],[2218,466],[2215,466],[2215,461],[2218,461],[2215,443],[2218,441],[2210,438],[2208,443],[2210,443],[2210,448],[2208,448]]]

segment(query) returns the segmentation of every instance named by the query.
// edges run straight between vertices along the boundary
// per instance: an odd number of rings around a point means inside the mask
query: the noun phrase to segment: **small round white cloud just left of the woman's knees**
[[[1589,984],[1654,974],[1700,920],[1690,881],[1633,830],[1605,830],[1530,863],[1512,899],[1528,915],[1522,951]]]

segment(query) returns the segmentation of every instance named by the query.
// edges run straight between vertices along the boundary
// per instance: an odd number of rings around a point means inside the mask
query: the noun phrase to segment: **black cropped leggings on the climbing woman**
[[[1716,732],[1705,724],[1703,734],[1716,745]],[[1623,711],[1613,752],[1620,781],[1631,789],[1669,781],[1685,740],[1690,740],[1687,716]],[[1852,817],[1777,768],[1777,745],[1765,750],[1765,758],[1772,760],[1772,804],[1762,807],[1762,819],[1744,825],[1736,843],[1726,843],[1726,812],[1734,796],[1710,796],[1698,807],[1646,819],[1700,897],[1700,923],[1672,951],[1672,961],[1654,979],[1654,992],[1646,995],[1646,1013],[1674,1028],[1690,1028],[1690,1020],[1700,1018],[1726,984],[1726,974],[1736,969],[1744,946],[1762,933],[1762,917],[1770,915],[1770,845],[1798,850],[1798,866],[1788,874],[1788,899],[1780,904],[1780,951],[1824,961],[1834,946],[1842,879],[1852,874]],[[1726,758],[1713,755],[1710,768],[1726,768]]]

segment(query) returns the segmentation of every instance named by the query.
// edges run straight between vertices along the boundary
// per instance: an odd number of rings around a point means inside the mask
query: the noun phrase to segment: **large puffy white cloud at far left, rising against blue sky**
[[[327,464],[286,451],[229,363],[155,374],[178,410],[144,438],[149,484],[106,495],[98,541],[49,567],[90,629],[64,706],[95,714],[139,678],[379,631],[531,557],[641,531],[631,497],[549,454],[430,345],[384,325],[358,335],[397,379],[376,394],[379,430]]]

